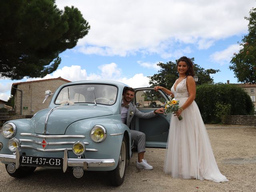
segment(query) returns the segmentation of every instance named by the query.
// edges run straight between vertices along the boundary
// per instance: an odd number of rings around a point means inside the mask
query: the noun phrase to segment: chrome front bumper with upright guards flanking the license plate
[[[21,156],[20,148],[16,148],[16,154],[14,155],[6,155],[0,154],[0,161],[4,162],[12,162],[15,163],[16,169],[20,167],[20,156]],[[68,150],[64,150],[63,156],[63,172],[66,172],[68,167],[82,167],[84,170],[88,169],[88,167],[112,167],[115,165],[114,159],[81,159],[81,158],[68,158]]]

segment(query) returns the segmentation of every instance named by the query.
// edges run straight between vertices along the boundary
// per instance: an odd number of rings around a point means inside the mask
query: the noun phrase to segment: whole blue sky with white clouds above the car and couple
[[[111,79],[147,87],[159,62],[194,58],[204,69],[219,69],[215,83],[238,83],[230,60],[248,34],[249,11],[256,0],[56,0],[59,9],[74,6],[89,22],[88,35],[60,54],[58,69],[43,79]],[[12,84],[40,80],[0,78],[0,100]]]

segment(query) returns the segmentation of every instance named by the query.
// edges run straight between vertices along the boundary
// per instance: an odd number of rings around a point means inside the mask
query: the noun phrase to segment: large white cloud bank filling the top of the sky
[[[174,42],[207,49],[217,40],[247,32],[244,16],[255,1],[56,0],[56,4],[61,9],[74,5],[91,25],[78,42],[79,52],[101,56],[141,52],[170,58],[182,52],[170,46]]]

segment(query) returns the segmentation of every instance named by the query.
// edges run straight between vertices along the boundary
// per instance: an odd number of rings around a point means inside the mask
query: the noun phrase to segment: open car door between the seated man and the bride
[[[134,104],[141,112],[151,112],[157,108],[164,108],[168,100],[162,90],[156,92],[154,88],[135,89]],[[134,130],[146,134],[146,147],[166,148],[170,117],[171,114],[158,114],[149,119],[134,117]]]

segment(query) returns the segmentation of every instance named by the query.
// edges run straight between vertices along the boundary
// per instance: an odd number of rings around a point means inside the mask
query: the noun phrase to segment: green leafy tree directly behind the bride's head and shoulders
[[[193,64],[194,64],[194,58],[191,58]],[[177,62],[177,60],[176,60]],[[179,73],[177,71],[177,64],[174,62],[167,62],[164,63],[158,63],[158,66],[160,66],[160,70],[157,74],[154,74],[153,76],[149,76],[150,81],[149,84],[151,86],[163,86],[167,89],[171,89],[172,85],[174,84],[175,80],[179,77]],[[215,69],[204,69],[200,67],[198,64],[194,64],[194,73],[198,76],[198,82],[197,85],[209,83],[212,84],[213,78],[210,77],[210,74],[215,74],[216,72],[219,72],[220,70]]]

